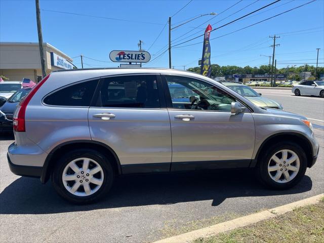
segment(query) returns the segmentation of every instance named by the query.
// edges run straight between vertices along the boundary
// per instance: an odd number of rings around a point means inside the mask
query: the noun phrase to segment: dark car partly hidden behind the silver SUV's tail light
[[[0,107],[0,132],[13,131],[13,114],[16,106],[30,91],[30,88],[18,90],[2,107]]]

